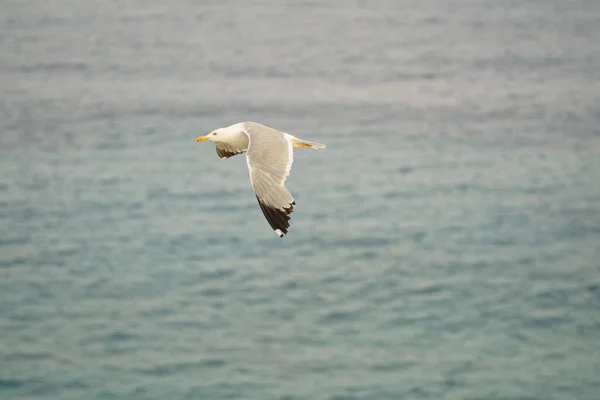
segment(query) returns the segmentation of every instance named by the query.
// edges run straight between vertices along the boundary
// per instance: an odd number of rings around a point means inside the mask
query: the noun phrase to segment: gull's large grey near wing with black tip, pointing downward
[[[260,124],[246,126],[250,139],[246,161],[256,199],[271,228],[283,237],[296,202],[285,187],[294,154],[291,141],[278,130]]]

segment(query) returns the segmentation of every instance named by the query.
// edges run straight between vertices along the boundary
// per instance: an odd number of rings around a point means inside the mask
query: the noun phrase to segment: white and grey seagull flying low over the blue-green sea
[[[283,237],[290,227],[290,214],[296,202],[285,187],[294,162],[294,147],[323,149],[324,144],[298,139],[288,133],[259,124],[240,122],[219,128],[196,142],[215,142],[217,155],[229,158],[246,153],[250,183],[258,205],[271,228]]]

